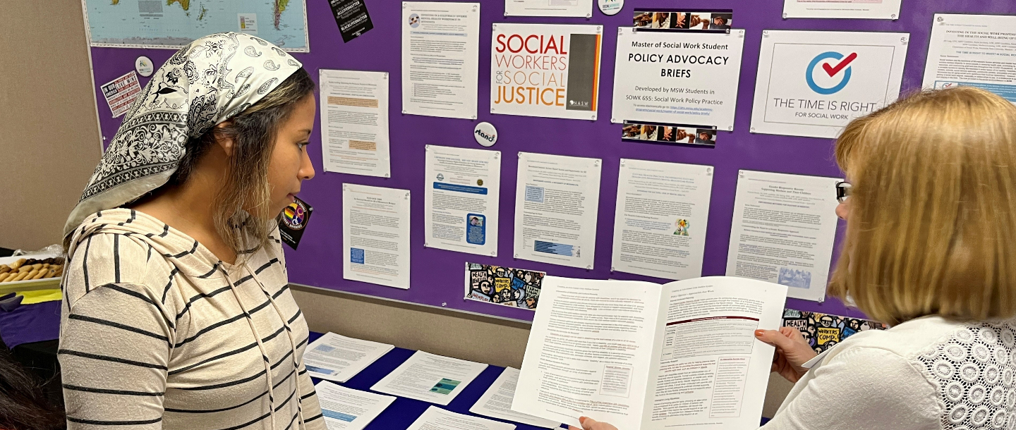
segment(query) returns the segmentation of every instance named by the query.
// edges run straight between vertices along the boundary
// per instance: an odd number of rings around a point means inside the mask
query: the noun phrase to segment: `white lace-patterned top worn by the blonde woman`
[[[851,336],[798,381],[773,429],[1016,429],[1016,321],[938,316]]]

